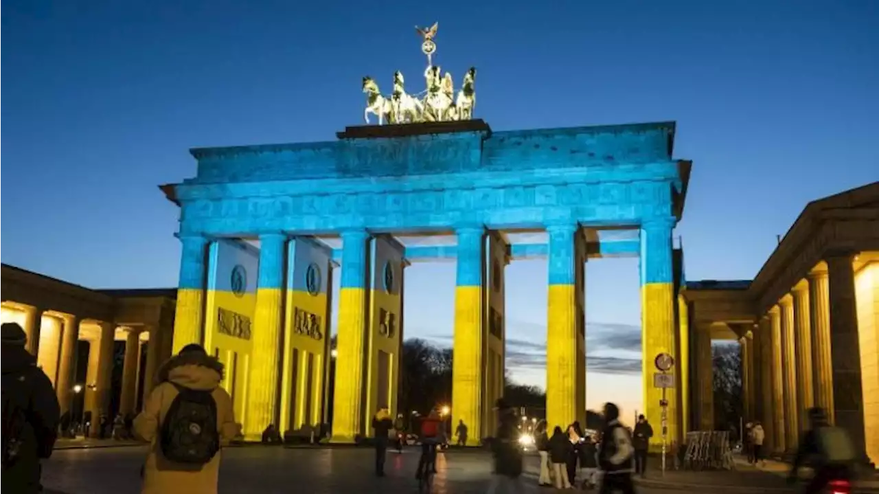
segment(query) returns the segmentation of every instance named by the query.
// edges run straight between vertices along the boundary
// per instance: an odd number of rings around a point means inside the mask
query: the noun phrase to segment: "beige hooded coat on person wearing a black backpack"
[[[175,356],[159,371],[161,384],[153,389],[143,411],[134,419],[134,433],[149,441],[150,449],[143,469],[142,494],[216,494],[220,473],[220,453],[206,465],[193,467],[165,459],[159,446],[159,435],[165,414],[178,395],[171,382],[188,389],[212,390],[217,405],[217,431],[222,444],[228,444],[238,434],[232,400],[220,388],[222,364],[208,356]]]

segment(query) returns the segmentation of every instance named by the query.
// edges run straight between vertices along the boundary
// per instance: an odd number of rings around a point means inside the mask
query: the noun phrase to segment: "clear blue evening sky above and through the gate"
[[[4,0],[0,261],[91,287],[175,285],[178,211],[156,185],[193,175],[187,149],[333,139],[360,123],[362,76],[389,91],[403,69],[421,89],[413,25],[434,20],[437,62],[456,83],[476,65],[476,115],[497,130],[678,121],[690,280],[752,277],[805,202],[879,179],[872,0]],[[589,319],[637,323],[636,262],[594,265]],[[453,271],[412,268],[407,303]],[[545,298],[523,290],[509,297]],[[545,304],[517,310],[545,321]]]

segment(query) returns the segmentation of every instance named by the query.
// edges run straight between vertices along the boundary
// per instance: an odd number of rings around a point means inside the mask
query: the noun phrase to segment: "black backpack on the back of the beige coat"
[[[214,396],[210,391],[174,387],[178,396],[162,423],[162,454],[177,463],[204,465],[220,451]]]

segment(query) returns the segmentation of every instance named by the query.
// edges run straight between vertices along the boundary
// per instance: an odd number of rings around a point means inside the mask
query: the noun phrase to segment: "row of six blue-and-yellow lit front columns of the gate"
[[[679,433],[679,386],[666,400],[668,415],[663,420],[662,389],[654,388],[653,360],[658,353],[675,356],[679,349],[675,327],[672,277],[673,218],[647,222],[641,229],[641,300],[643,323],[643,393],[645,415],[654,424],[667,426],[669,435]],[[585,240],[577,223],[547,227],[548,320],[547,320],[547,418],[551,425],[585,423]],[[457,269],[454,317],[453,403],[454,421],[469,427],[469,441],[476,444],[491,431],[491,409],[503,392],[505,331],[503,307],[499,323],[492,308],[498,307],[487,287],[499,272],[503,284],[506,260],[499,265],[490,248],[498,236],[481,225],[456,229]],[[365,280],[370,258],[365,229],[341,233],[342,275],[338,314],[337,365],[334,398],[334,438],[349,441],[367,429],[365,418],[374,410],[367,406],[365,389],[371,386],[371,371],[364,366],[370,351],[373,324],[367,321],[369,294]],[[245,435],[256,436],[277,415],[278,369],[282,336],[282,286],[284,245],[287,236],[259,236],[260,253],[253,354],[250,370],[248,418]],[[492,240],[495,239],[495,240]],[[207,276],[208,239],[181,236],[183,243],[173,351],[204,340],[204,304]],[[488,243],[488,248],[487,248]],[[402,274],[402,273],[401,273]],[[402,276],[401,276],[402,278]],[[501,296],[499,300],[503,301]],[[402,310],[401,310],[402,314]],[[492,327],[494,324],[494,327]],[[498,327],[499,324],[499,327]],[[364,331],[367,331],[366,333]],[[498,350],[499,349],[499,350]],[[499,354],[499,359],[498,359]],[[680,361],[679,359],[676,359]],[[492,364],[492,362],[494,362]],[[498,374],[498,376],[490,375]],[[496,383],[497,381],[497,383]],[[678,382],[681,381],[679,378]],[[498,384],[499,383],[499,384]],[[396,392],[396,388],[395,388]],[[653,439],[658,443],[660,434]]]

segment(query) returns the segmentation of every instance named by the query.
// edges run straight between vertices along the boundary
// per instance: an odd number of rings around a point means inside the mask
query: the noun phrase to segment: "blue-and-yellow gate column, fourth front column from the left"
[[[487,302],[483,279],[485,229],[465,227],[458,236],[458,264],[454,288],[454,360],[452,362],[452,423],[468,426],[468,446],[478,446],[490,435],[483,424],[485,403],[483,380],[486,368],[486,328],[483,308]],[[548,353],[548,351],[547,351]],[[547,398],[547,403],[549,398]],[[547,404],[549,406],[549,404]]]

